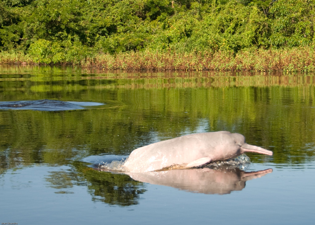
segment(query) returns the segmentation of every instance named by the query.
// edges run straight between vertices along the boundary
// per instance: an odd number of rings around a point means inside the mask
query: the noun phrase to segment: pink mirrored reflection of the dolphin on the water
[[[102,170],[98,168],[98,170]],[[245,182],[271,173],[272,169],[244,172],[241,169],[172,169],[146,173],[125,173],[136,181],[175,187],[204,194],[229,194],[240,191]]]

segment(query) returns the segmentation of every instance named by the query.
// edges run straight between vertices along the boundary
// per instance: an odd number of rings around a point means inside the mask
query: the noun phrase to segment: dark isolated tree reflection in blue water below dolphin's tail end
[[[58,189],[55,193],[73,193],[74,185],[87,186],[93,201],[121,206],[138,204],[140,194],[146,190],[142,182],[128,175],[100,172],[83,163],[73,163],[75,169],[49,172],[46,181],[49,187]]]

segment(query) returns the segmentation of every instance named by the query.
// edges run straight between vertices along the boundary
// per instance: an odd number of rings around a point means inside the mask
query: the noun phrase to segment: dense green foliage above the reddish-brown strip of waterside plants
[[[314,45],[315,0],[0,0],[0,50],[39,63],[104,53]]]

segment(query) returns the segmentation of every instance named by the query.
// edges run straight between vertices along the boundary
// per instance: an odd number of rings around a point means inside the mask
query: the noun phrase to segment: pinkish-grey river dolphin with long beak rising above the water
[[[245,137],[239,133],[195,133],[137,148],[131,152],[122,169],[133,173],[188,169],[234,158],[245,152],[272,155],[272,151],[246,144]]]

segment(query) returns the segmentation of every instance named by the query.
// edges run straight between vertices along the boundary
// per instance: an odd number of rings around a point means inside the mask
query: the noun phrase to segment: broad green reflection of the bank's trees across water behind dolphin
[[[0,101],[80,99],[108,108],[0,111],[0,173],[34,163],[67,165],[103,153],[128,155],[137,147],[200,131],[242,133],[248,143],[274,151],[268,162],[305,163],[315,154],[314,75],[163,73],[127,79],[122,73],[82,80],[78,73],[71,82],[58,74],[50,74],[56,80],[41,79],[46,75],[31,76],[32,82],[3,80]],[[249,156],[253,162],[263,158]]]

